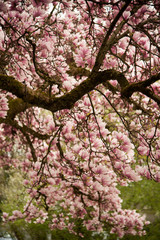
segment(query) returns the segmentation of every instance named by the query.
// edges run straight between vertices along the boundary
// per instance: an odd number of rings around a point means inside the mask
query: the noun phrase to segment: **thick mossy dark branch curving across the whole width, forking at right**
[[[85,94],[92,91],[99,84],[105,83],[109,80],[118,81],[121,87],[122,97],[129,98],[134,92],[141,92],[155,100],[158,104],[160,103],[159,97],[147,89],[148,86],[160,80],[160,73],[151,76],[143,82],[129,84],[124,74],[114,69],[108,69],[98,72],[97,74],[94,74],[94,76],[89,76],[69,93],[66,93],[61,97],[52,96],[51,98],[49,98],[45,93],[38,90],[32,90],[17,81],[15,78],[6,75],[0,75],[0,88],[11,92],[18,98],[21,98],[24,101],[24,104],[28,104],[27,106],[37,106],[51,112],[57,112],[62,109],[71,109],[73,105]],[[24,109],[24,106],[25,105],[22,104],[22,109]]]

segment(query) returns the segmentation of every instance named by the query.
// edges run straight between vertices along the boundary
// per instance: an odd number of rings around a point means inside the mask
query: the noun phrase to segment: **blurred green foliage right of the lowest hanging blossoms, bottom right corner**
[[[125,236],[122,240],[158,240],[160,239],[160,184],[153,180],[143,179],[120,187],[124,208],[136,208],[145,214],[151,222],[145,227],[146,235]],[[114,238],[109,238],[109,240]]]

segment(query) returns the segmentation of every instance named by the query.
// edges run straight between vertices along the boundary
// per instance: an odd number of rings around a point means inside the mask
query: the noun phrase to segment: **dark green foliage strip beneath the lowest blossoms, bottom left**
[[[104,239],[104,234],[87,231],[86,228],[82,226],[80,219],[75,220],[75,225],[75,232],[77,235],[70,233],[67,229],[54,229],[51,231],[46,223],[26,223],[24,220],[19,220],[15,221],[14,223],[7,224],[4,230],[8,232],[12,237],[16,237],[18,240],[47,240],[49,235],[52,240]],[[79,233],[82,233],[84,237],[81,237]]]

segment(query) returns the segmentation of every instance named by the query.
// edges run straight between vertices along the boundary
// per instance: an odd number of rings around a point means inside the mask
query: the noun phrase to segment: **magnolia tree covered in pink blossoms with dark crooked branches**
[[[28,194],[3,219],[144,234],[117,187],[160,182],[159,1],[1,0],[0,26],[0,166]]]

